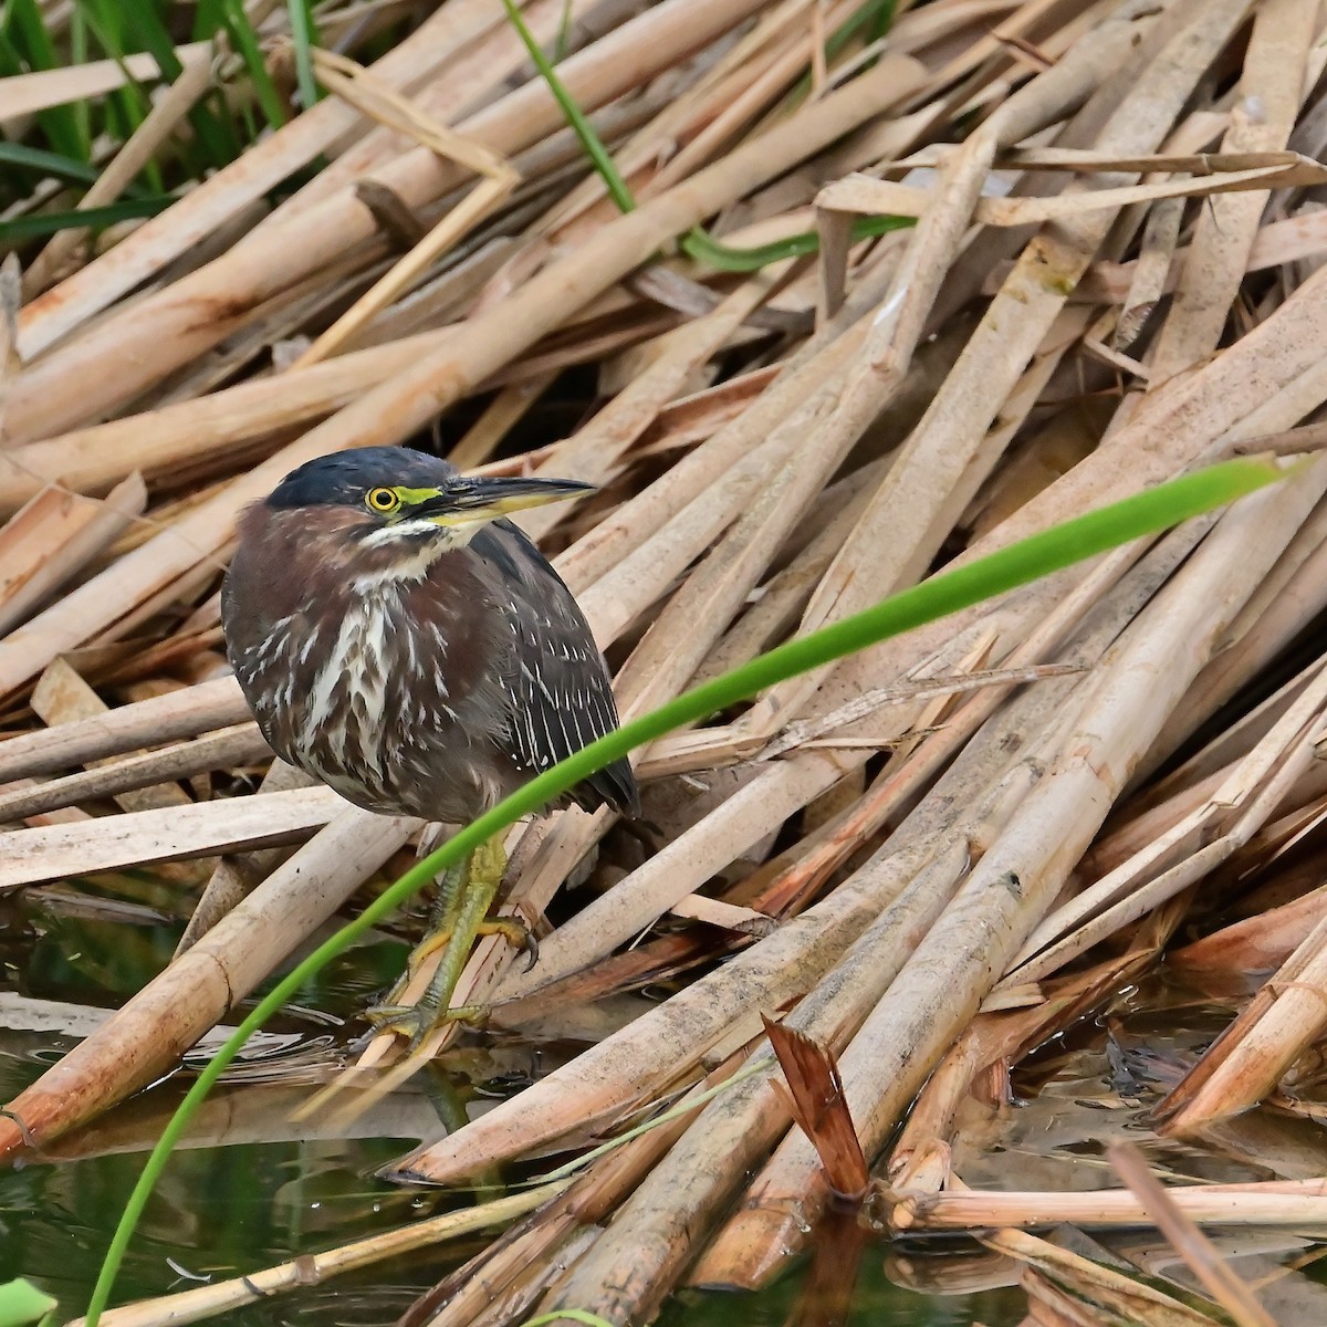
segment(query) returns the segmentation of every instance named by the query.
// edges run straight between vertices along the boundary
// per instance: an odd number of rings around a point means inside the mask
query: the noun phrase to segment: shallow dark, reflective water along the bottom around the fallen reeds
[[[12,1099],[74,1036],[85,1035],[104,1016],[101,1010],[169,959],[179,921],[165,909],[150,916],[157,906],[151,882],[141,881],[130,893],[125,916],[89,912],[58,894],[11,902],[0,913],[0,1100]],[[350,1127],[330,1119],[291,1120],[311,1087],[344,1060],[354,1030],[344,1020],[353,1020],[390,979],[402,954],[399,943],[380,937],[344,955],[234,1067],[158,1186],[115,1302],[188,1289],[195,1278],[243,1275],[474,1201],[468,1194],[403,1190],[377,1180],[374,1170],[425,1135],[437,1136],[439,1120],[482,1111],[487,1100],[547,1071],[572,1048],[463,1050],[449,1062],[449,1076],[421,1076]],[[1176,1178],[1327,1173],[1327,1133],[1311,1121],[1254,1112],[1202,1149],[1161,1143],[1147,1132],[1147,1103],[1227,1016],[1218,1005],[1161,987],[1121,995],[1108,1026],[1082,1024],[1015,1078],[1015,1104],[970,1103],[957,1173],[979,1188],[1115,1185],[1104,1158],[1113,1137],[1144,1143],[1152,1164]],[[82,1311],[123,1201],[186,1085],[187,1075],[175,1075],[56,1145],[48,1157],[0,1172],[0,1281],[28,1277],[58,1298],[62,1316]],[[251,1327],[387,1323],[488,1238],[471,1237],[338,1277],[232,1311],[224,1320]],[[1279,1323],[1327,1322],[1327,1289],[1316,1279],[1314,1261],[1320,1250],[1311,1241],[1242,1234],[1226,1238],[1222,1249],[1239,1258],[1249,1279],[1270,1287],[1265,1295],[1269,1307],[1275,1300]],[[1182,1266],[1153,1234],[1112,1235],[1089,1243],[1088,1251],[1188,1285]],[[1304,1270],[1292,1270],[1298,1263]],[[833,1318],[831,1304],[821,1302],[816,1287],[824,1283],[823,1269],[817,1279],[808,1259],[759,1294],[683,1291],[662,1322],[699,1327],[739,1315],[752,1324],[1006,1327],[1024,1312],[1018,1274],[1016,1265],[974,1241],[889,1245],[871,1237],[845,1318]]]

